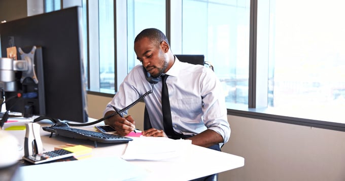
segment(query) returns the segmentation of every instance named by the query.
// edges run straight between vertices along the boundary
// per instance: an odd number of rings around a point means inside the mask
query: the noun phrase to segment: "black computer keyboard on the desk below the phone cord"
[[[102,132],[96,132],[96,131],[89,131],[85,129],[78,129],[78,128],[72,128],[72,127],[56,127],[56,126],[48,126],[48,127],[42,127],[43,130],[56,133],[60,136],[70,137],[70,138],[76,138],[76,139],[88,139],[91,141],[94,141],[95,147],[97,147],[97,142],[105,142],[105,143],[126,143],[128,141],[131,141],[133,139],[120,136],[116,134],[107,134]],[[51,135],[52,136],[52,135]]]

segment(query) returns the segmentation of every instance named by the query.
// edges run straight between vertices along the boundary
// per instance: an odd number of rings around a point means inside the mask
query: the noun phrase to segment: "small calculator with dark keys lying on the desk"
[[[26,161],[29,161],[33,164],[39,164],[39,163],[46,163],[62,158],[72,157],[74,156],[73,152],[67,151],[67,150],[54,150],[50,152],[45,152],[41,154],[34,154],[29,156],[24,156],[23,159]]]

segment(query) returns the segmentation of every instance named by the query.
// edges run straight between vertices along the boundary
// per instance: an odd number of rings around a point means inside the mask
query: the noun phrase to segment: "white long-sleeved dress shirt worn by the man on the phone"
[[[206,129],[218,132],[226,143],[230,137],[225,97],[216,74],[202,65],[194,65],[175,59],[166,73],[172,126],[177,133],[195,135]],[[144,98],[153,128],[164,130],[161,90],[162,81],[150,84],[146,81],[142,65],[136,65],[120,85],[119,91],[106,107],[104,114],[128,106],[147,91]]]

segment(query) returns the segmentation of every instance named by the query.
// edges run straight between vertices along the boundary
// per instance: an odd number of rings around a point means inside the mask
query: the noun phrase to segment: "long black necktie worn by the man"
[[[168,87],[166,86],[166,78],[168,78],[168,75],[162,76],[162,112],[164,132],[168,137],[170,137],[175,134],[174,129],[172,128],[169,92]]]

